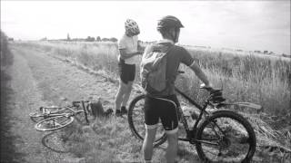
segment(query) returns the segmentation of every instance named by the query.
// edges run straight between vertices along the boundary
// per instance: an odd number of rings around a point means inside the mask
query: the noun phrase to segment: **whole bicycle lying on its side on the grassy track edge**
[[[86,124],[89,124],[88,114],[91,101],[73,101],[72,105],[65,107],[40,107],[29,114],[36,122],[35,129],[40,131],[52,131],[62,129],[75,120],[75,116],[84,113]],[[82,110],[79,110],[82,108]],[[38,120],[41,119],[41,120]]]

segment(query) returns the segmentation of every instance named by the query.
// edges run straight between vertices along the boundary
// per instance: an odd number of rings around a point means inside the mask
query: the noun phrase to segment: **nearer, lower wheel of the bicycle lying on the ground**
[[[74,121],[74,117],[55,116],[45,120],[41,120],[35,124],[35,129],[40,131],[52,131],[65,128]]]

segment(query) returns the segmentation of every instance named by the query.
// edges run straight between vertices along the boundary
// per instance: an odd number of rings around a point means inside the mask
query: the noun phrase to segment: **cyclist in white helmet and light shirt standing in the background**
[[[120,75],[119,89],[115,96],[115,115],[126,114],[126,103],[129,99],[135,80],[136,56],[143,54],[137,51],[137,35],[140,33],[138,25],[132,19],[125,21],[125,34],[118,43],[118,69]],[[122,107],[121,107],[122,106]]]

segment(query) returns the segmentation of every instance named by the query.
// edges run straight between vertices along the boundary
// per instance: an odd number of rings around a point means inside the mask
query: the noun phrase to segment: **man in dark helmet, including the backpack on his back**
[[[153,142],[159,119],[166,130],[168,141],[166,162],[176,161],[179,102],[175,94],[175,81],[180,62],[189,66],[206,87],[210,87],[206,74],[191,54],[185,48],[175,45],[180,28],[183,27],[175,16],[163,17],[157,24],[157,31],[162,34],[163,40],[148,45],[143,54],[140,75],[142,86],[146,90],[146,137],[143,143],[146,163],[151,162],[153,156]]]

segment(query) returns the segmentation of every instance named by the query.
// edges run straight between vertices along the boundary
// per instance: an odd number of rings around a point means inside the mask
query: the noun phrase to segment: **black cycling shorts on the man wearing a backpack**
[[[160,119],[168,133],[176,133],[178,127],[178,108],[176,95],[153,98],[146,95],[145,123],[147,129],[155,129]]]

